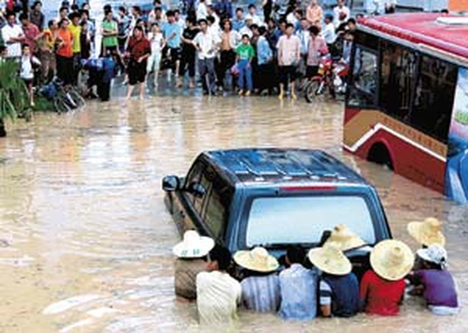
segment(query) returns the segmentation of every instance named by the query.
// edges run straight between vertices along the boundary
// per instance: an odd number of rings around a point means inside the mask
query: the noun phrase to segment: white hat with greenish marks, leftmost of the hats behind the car
[[[200,236],[195,230],[188,230],[184,240],[172,249],[178,258],[201,258],[206,256],[215,247],[215,241],[210,237]]]

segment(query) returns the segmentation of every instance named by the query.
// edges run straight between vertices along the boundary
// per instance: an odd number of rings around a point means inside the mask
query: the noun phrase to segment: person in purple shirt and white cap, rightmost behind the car
[[[446,269],[447,251],[439,244],[432,244],[427,249],[417,250],[416,256],[422,260],[423,268],[410,276],[415,285],[411,294],[423,296],[433,314],[457,314],[455,281]]]

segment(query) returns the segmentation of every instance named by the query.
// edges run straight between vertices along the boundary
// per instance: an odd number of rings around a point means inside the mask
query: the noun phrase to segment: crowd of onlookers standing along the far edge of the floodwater
[[[228,0],[188,0],[181,15],[155,0],[149,13],[106,5],[102,18],[91,18],[89,3],[64,1],[58,17],[46,22],[35,1],[20,15],[6,11],[0,18],[1,54],[20,60],[31,92],[55,75],[65,85],[78,84],[86,59],[107,57],[125,74],[128,98],[137,84],[144,96],[150,73],[148,86],[157,89],[161,71],[169,81],[174,76],[174,88],[201,82],[206,94],[278,93],[282,99],[290,91],[296,98],[295,82],[317,74],[320,56],[349,62],[356,22],[345,0],[329,14],[317,0],[265,0],[258,11],[253,2],[234,10]]]

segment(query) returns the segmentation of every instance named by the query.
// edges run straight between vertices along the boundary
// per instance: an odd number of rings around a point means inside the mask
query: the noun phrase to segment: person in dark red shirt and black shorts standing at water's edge
[[[129,57],[128,63],[128,92],[127,99],[132,97],[132,92],[137,83],[140,84],[140,99],[143,99],[145,93],[146,66],[148,57],[151,55],[150,41],[143,36],[143,29],[136,26],[133,36],[128,41],[126,56]]]

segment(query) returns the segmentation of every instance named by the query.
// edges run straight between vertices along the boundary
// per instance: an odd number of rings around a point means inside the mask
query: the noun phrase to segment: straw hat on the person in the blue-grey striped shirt
[[[263,247],[250,251],[237,251],[233,257],[236,264],[255,272],[273,272],[279,267],[278,260]]]

